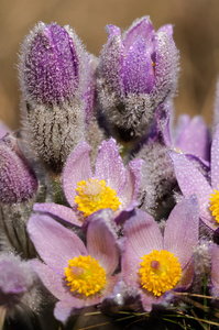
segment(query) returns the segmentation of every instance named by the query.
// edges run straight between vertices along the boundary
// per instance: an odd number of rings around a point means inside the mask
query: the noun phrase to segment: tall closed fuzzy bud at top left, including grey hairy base
[[[94,79],[90,66],[90,55],[69,26],[40,22],[22,45],[21,134],[30,155],[53,172],[61,173],[70,151],[85,139],[87,99],[92,98],[87,92]]]

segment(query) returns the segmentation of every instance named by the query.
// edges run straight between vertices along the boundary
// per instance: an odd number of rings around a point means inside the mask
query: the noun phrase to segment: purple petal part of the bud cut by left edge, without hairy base
[[[15,134],[0,140],[0,201],[26,201],[36,194],[37,179],[25,160]]]

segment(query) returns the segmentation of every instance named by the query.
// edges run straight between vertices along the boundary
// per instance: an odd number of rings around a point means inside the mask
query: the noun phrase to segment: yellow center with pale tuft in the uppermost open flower
[[[116,211],[121,205],[117,191],[107,187],[105,180],[91,178],[89,182],[81,180],[78,183],[76,191],[78,195],[75,197],[75,202],[78,205],[78,210],[84,212],[84,217],[100,209],[110,208]]]

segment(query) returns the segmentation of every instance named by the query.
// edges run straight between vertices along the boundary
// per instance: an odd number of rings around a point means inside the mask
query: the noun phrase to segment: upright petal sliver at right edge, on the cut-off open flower
[[[219,189],[219,127],[213,135],[211,145],[211,187]]]

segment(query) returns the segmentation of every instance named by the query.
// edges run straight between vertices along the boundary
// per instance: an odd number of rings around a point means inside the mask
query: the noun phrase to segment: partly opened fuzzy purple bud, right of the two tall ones
[[[123,142],[144,135],[157,106],[173,97],[178,51],[173,26],[154,31],[149,16],[135,20],[121,34],[107,25],[108,42],[100,54],[98,95],[111,134]]]

